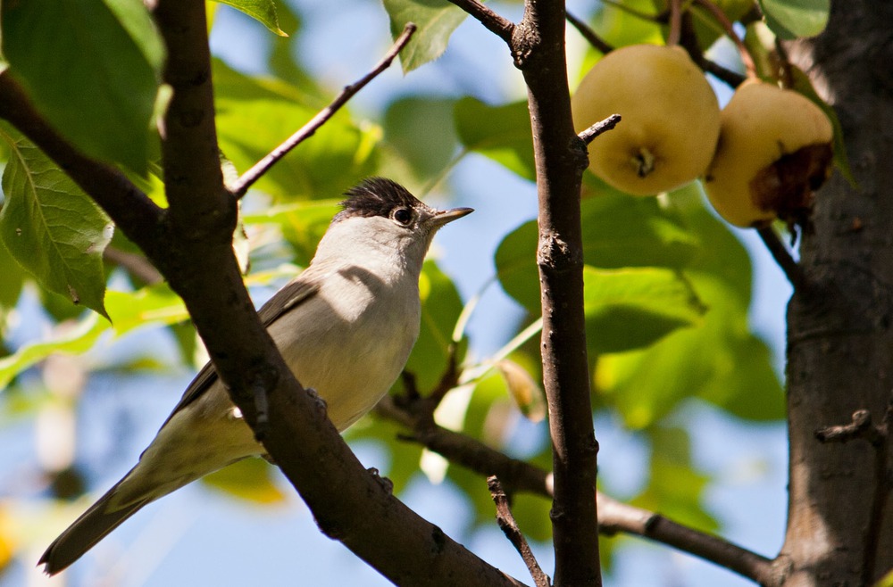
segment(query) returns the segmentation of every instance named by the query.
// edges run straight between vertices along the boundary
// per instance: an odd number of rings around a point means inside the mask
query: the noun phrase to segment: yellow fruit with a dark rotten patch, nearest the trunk
[[[792,90],[748,80],[722,110],[722,132],[704,178],[710,203],[739,227],[802,219],[828,178],[830,120]]]

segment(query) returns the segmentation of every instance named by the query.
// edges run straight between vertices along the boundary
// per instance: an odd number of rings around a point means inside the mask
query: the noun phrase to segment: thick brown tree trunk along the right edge
[[[893,566],[893,3],[831,4],[828,29],[790,51],[838,113],[857,186],[835,172],[817,194],[789,303],[786,586],[870,585]],[[857,410],[872,426],[817,437]]]

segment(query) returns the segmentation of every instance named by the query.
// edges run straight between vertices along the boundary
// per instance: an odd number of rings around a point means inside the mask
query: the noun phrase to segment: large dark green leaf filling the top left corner
[[[144,171],[164,54],[143,3],[4,3],[2,26],[38,112],[89,156]]]

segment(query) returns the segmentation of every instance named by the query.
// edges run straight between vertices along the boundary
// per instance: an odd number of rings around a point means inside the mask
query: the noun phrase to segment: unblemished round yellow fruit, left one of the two
[[[596,63],[571,100],[577,132],[617,113],[589,146],[589,169],[610,186],[653,195],[704,173],[720,132],[713,89],[674,46],[630,45]]]

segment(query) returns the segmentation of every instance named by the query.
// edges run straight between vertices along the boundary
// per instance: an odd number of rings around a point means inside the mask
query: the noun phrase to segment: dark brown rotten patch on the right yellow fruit
[[[802,224],[813,203],[813,193],[830,174],[831,145],[806,145],[782,155],[760,169],[750,181],[757,208],[775,211],[786,222]]]

